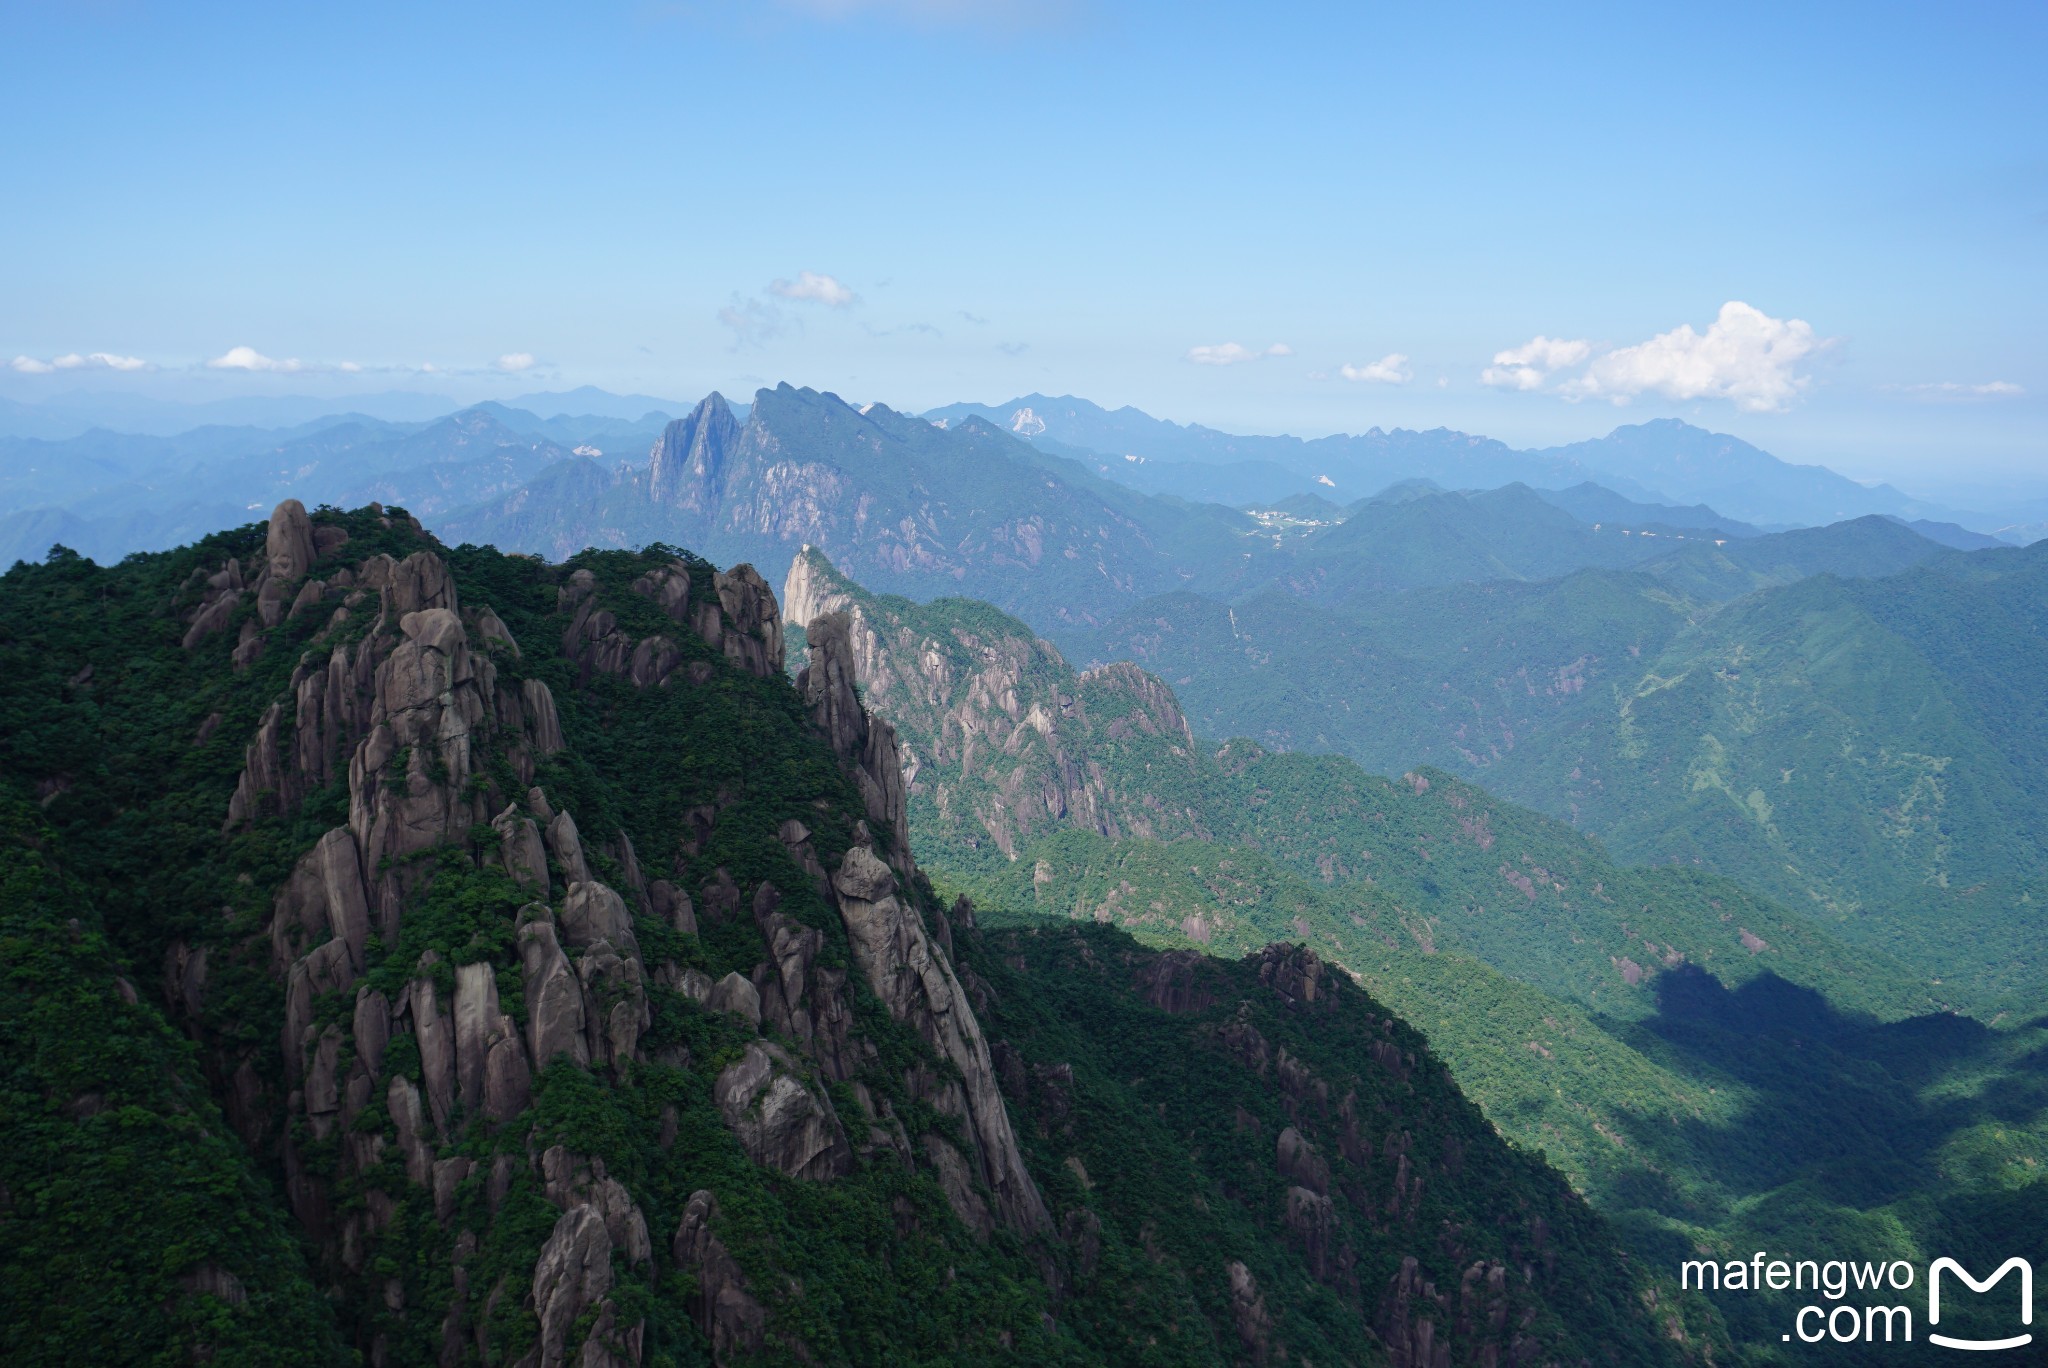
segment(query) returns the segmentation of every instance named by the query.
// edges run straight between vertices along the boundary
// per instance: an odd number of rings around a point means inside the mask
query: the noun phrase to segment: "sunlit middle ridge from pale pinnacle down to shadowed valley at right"
[[[985,920],[1217,954],[1305,938],[1653,1259],[1792,1233],[1841,1257],[2040,1247],[2040,1020],[1942,1012],[1952,985],[1825,920],[1620,866],[1442,770],[1200,743],[1159,680],[1075,672],[985,604],[872,596],[815,551],[786,598],[848,614],[918,854]],[[1776,1362],[1792,1309],[1724,1305],[1745,1362]]]

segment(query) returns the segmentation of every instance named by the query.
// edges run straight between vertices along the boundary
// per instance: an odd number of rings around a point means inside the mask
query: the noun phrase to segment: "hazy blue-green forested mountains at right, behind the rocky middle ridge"
[[[1436,764],[1622,858],[1700,864],[1831,917],[1944,979],[1948,1001],[2032,1010],[2001,999],[2044,950],[2030,909],[2048,723],[2023,682],[2048,655],[2048,559],[1925,549],[1866,518],[1339,608],[1178,594],[1079,657],[1157,672],[1196,731]],[[1894,569],[1802,573],[1858,557]]]

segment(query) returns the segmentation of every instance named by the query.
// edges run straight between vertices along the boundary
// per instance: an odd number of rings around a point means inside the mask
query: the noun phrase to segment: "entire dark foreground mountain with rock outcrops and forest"
[[[0,578],[8,1362],[1710,1350],[1313,952],[940,907],[831,629],[379,508]]]

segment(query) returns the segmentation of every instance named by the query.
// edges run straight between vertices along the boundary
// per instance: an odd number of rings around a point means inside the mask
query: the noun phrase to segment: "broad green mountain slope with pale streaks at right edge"
[[[1970,1006],[2048,950],[2048,559],[1989,551],[1731,604],[1489,776],[1640,860],[1706,862]],[[1546,799],[1542,795],[1548,795]]]

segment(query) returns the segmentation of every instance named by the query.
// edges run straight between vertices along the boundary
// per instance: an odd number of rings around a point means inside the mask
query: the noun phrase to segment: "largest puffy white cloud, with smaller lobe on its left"
[[[1778,414],[1806,391],[1804,362],[1827,346],[1812,326],[1772,317],[1739,299],[1706,332],[1679,324],[1649,342],[1599,350],[1591,342],[1532,338],[1493,354],[1479,379],[1499,389],[1548,389],[1571,401],[1628,403],[1636,395],[1726,399],[1745,414]],[[1583,369],[1571,377],[1561,371]],[[1552,383],[1554,381],[1554,383]]]

